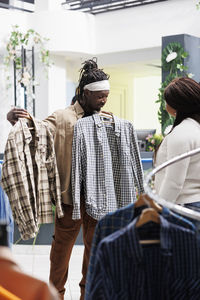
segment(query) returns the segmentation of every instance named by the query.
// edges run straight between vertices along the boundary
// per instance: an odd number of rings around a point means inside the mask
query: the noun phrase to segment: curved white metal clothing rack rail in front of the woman
[[[144,190],[145,190],[145,193],[150,197],[152,198],[154,201],[156,201],[158,204],[162,205],[162,206],[165,206],[175,212],[177,212],[178,214],[181,214],[181,215],[184,215],[188,218],[192,218],[192,219],[195,219],[195,220],[198,220],[200,221],[200,212],[197,212],[197,211],[194,211],[192,209],[189,209],[189,208],[186,208],[184,206],[181,206],[181,205],[178,205],[178,204],[174,204],[172,202],[168,202],[166,201],[165,199],[161,198],[159,195],[156,194],[155,190],[152,190],[151,187],[149,186],[149,183],[151,182],[152,180],[152,177],[158,173],[159,171],[161,171],[162,169],[166,168],[167,166],[169,165],[172,165],[184,158],[187,158],[187,157],[191,157],[191,156],[194,156],[196,154],[199,154],[200,153],[200,148],[197,148],[195,150],[191,150],[189,152],[186,152],[186,153],[183,153],[183,154],[180,154],[166,162],[164,162],[163,164],[159,165],[158,167],[154,168],[151,172],[149,172],[147,174],[147,176],[145,177],[145,180],[144,180]]]

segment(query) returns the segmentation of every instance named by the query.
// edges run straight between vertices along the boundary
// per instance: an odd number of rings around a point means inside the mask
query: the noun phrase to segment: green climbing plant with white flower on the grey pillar
[[[168,72],[165,81],[162,82],[159,89],[158,100],[160,103],[158,110],[158,120],[161,124],[161,132],[166,134],[166,129],[174,123],[174,118],[168,114],[165,109],[164,90],[167,85],[178,76],[192,77],[193,74],[188,74],[188,68],[184,65],[184,59],[188,56],[180,43],[169,43],[162,52],[162,68]]]

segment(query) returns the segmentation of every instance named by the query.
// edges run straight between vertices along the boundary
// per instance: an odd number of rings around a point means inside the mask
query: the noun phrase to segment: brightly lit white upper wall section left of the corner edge
[[[41,11],[34,14],[0,8],[0,51],[11,31],[11,25],[21,30],[33,28],[48,37],[53,52],[96,52],[95,17],[74,11]]]

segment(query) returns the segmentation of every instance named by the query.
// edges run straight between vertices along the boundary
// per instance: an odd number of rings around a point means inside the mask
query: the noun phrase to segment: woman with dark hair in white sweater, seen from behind
[[[200,147],[200,85],[176,78],[165,88],[167,112],[175,117],[156,154],[156,165]],[[155,189],[165,200],[200,209],[200,154],[174,163],[155,176]]]

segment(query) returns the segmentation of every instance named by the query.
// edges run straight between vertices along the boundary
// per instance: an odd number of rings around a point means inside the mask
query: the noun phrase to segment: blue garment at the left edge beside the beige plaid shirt
[[[2,164],[0,162],[0,179]],[[9,246],[13,243],[14,222],[8,197],[0,185],[0,222],[6,222],[9,228]]]

